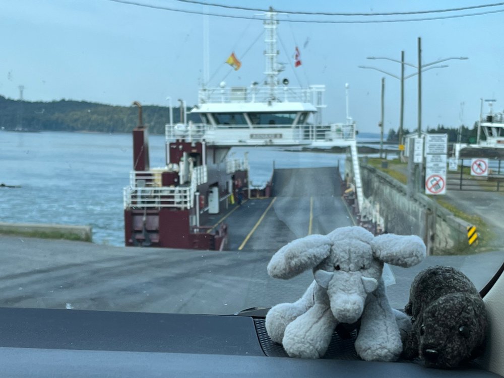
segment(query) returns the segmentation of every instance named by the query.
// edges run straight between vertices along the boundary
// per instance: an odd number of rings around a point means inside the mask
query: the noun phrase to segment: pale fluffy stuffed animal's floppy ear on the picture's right
[[[373,256],[388,264],[409,268],[425,258],[426,248],[416,235],[384,234],[371,241]]]

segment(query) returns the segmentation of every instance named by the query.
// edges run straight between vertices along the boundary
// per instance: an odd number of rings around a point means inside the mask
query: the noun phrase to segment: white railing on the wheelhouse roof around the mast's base
[[[200,104],[233,102],[304,102],[315,103],[314,94],[324,92],[324,86],[302,87],[238,87],[238,88],[203,88],[199,91]]]

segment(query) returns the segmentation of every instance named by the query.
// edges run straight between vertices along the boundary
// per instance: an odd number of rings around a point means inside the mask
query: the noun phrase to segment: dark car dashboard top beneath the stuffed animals
[[[0,376],[497,377],[477,365],[435,370],[366,362],[335,333],[325,358],[286,357],[264,318],[83,310],[0,309]]]

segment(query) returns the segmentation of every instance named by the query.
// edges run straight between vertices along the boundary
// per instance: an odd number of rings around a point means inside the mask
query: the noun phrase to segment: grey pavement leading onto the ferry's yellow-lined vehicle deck
[[[274,190],[274,199],[249,200],[226,218],[226,252],[0,236],[0,307],[232,314],[294,301],[312,274],[270,278],[266,266],[273,253],[295,238],[353,221],[336,169],[278,170]],[[389,287],[391,303],[403,308],[414,275],[429,265],[452,265],[482,287],[503,260],[503,253],[490,252],[392,267],[397,284]]]

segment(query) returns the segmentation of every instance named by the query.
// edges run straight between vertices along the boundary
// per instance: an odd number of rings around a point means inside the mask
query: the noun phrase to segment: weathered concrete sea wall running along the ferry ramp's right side
[[[418,235],[431,255],[467,248],[466,221],[423,194],[408,196],[406,185],[366,164],[360,165],[364,197],[380,208],[385,232]]]

